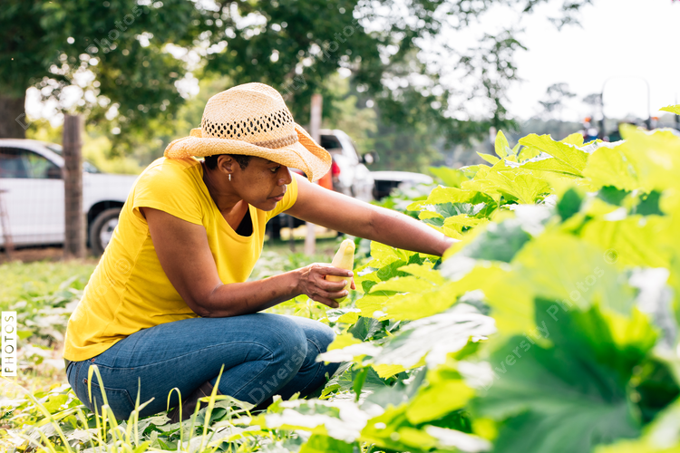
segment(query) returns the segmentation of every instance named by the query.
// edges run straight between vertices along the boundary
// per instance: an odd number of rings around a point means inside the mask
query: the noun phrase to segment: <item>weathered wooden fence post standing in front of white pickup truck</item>
[[[83,118],[65,115],[63,118],[63,191],[65,257],[85,255],[85,222],[83,216]]]

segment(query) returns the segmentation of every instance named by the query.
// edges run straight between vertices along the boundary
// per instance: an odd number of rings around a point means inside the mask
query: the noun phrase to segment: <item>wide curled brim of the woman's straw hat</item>
[[[282,148],[265,148],[243,140],[203,138],[200,130],[189,137],[173,140],[163,155],[169,159],[206,157],[214,154],[257,156],[286,167],[301,169],[310,181],[323,177],[331,168],[331,155],[312,139],[299,124],[295,125],[297,141]]]

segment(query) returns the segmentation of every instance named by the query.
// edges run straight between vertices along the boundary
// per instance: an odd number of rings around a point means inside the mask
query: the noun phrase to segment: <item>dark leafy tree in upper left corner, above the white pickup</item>
[[[176,82],[187,67],[164,46],[192,45],[202,30],[201,14],[188,0],[5,0],[0,138],[24,137],[24,97],[31,86],[61,110],[87,113],[91,121],[108,113],[113,132],[169,116],[181,104]],[[68,91],[80,94],[75,105],[64,103]]]

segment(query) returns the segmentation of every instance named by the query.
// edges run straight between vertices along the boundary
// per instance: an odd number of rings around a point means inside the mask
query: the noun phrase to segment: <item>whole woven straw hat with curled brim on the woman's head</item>
[[[293,120],[281,95],[264,83],[244,83],[211,97],[199,129],[170,142],[165,157],[186,159],[243,154],[301,169],[316,181],[331,167],[331,155]]]

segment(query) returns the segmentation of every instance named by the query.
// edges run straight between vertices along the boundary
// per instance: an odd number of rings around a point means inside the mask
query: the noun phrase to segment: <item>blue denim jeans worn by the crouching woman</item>
[[[299,391],[307,396],[325,383],[338,363],[317,362],[335,333],[324,323],[273,313],[252,313],[228,318],[191,318],[164,323],[133,333],[101,354],[72,362],[66,374],[71,387],[93,410],[87,374],[97,365],[106,399],[117,419],[128,419],[137,392],[140,403],[153,400],[140,416],[166,410],[173,388],[187,398],[203,383],[238,400],[260,404],[273,395],[284,400]],[[101,413],[99,380],[92,375],[92,400]],[[177,406],[172,392],[170,407]]]

